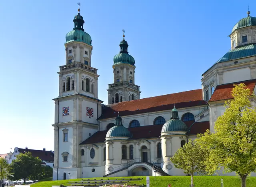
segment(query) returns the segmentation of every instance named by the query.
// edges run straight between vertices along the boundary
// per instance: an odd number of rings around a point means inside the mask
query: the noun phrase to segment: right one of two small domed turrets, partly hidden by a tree
[[[164,161],[162,169],[169,175],[184,175],[181,169],[176,169],[172,165],[170,157],[174,155],[178,148],[186,143],[187,132],[188,127],[178,117],[178,110],[174,106],[171,112],[171,119],[164,123],[160,136],[162,142],[162,157]]]

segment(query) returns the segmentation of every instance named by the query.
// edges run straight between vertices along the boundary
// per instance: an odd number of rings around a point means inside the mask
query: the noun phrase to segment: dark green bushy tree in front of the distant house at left
[[[42,173],[41,159],[33,157],[30,152],[17,155],[17,158],[10,164],[8,179],[14,181],[26,177],[37,176]]]

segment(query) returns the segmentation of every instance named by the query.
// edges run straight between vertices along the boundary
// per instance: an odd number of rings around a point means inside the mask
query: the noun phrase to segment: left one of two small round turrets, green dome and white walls
[[[127,139],[132,137],[130,131],[122,125],[122,118],[116,117],[116,125],[111,127],[106,134],[106,174],[111,173],[114,167],[122,166],[128,159]]]

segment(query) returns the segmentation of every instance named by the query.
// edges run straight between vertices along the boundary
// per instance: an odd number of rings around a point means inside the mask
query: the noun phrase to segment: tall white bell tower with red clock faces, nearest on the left
[[[60,66],[59,96],[55,101],[53,180],[81,178],[80,143],[98,131],[101,115],[97,69],[92,67],[92,39],[84,32],[84,18],[74,17],[66,34],[66,62]],[[68,172],[67,172],[68,171]]]

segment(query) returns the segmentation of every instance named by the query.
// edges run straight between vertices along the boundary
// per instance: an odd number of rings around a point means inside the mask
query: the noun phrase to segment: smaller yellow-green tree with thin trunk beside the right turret
[[[194,184],[194,173],[205,173],[205,162],[208,153],[205,149],[201,149],[200,145],[189,139],[183,147],[170,158],[170,161],[176,168],[183,169],[184,173],[191,175],[191,185]]]

